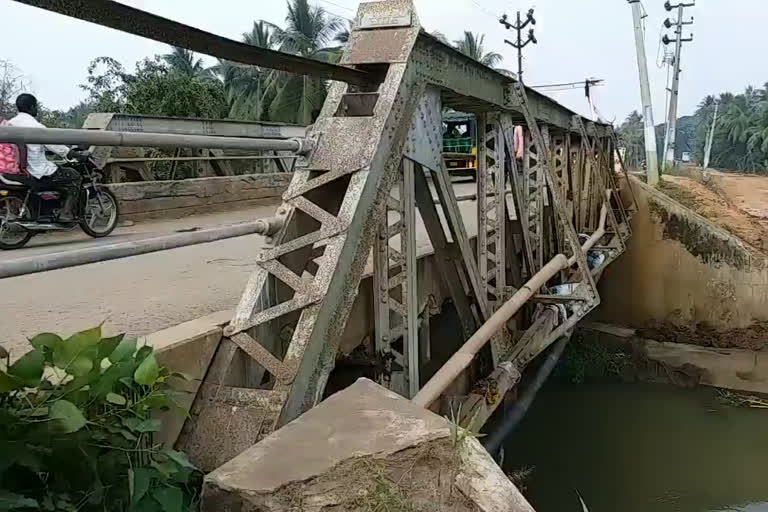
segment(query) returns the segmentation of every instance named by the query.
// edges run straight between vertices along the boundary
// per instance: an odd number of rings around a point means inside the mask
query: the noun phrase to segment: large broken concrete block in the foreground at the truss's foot
[[[367,379],[205,478],[203,511],[533,508],[476,439]]]

